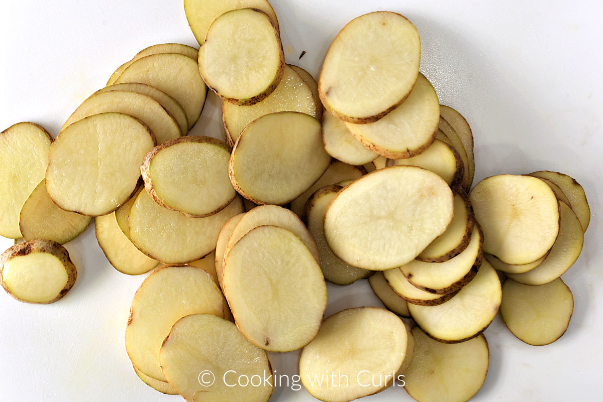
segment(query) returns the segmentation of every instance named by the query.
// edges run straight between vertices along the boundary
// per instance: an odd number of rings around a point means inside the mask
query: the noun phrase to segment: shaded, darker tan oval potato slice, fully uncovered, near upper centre
[[[229,175],[251,202],[283,205],[308,190],[329,162],[318,120],[305,113],[271,113],[250,123],[236,140]]]

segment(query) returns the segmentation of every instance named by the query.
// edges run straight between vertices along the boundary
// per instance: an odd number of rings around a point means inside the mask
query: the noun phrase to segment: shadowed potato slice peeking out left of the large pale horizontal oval
[[[320,268],[323,270],[324,279],[335,285],[350,285],[358,279],[364,279],[371,271],[353,267],[341,261],[329,248],[327,239],[324,237],[324,211],[327,205],[341,190],[339,185],[330,185],[320,188],[308,199],[304,216],[308,223],[308,230],[314,236],[320,251]]]

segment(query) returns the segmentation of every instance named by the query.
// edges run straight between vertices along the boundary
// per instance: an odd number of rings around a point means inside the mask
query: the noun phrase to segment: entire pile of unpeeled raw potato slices
[[[125,330],[135,373],[187,401],[268,401],[274,382],[223,379],[263,378],[267,351],[301,350],[318,400],[402,383],[419,402],[464,402],[484,383],[499,312],[526,344],[563,335],[561,275],[584,243],[586,194],[549,171],[473,186],[471,128],[419,71],[406,17],[347,23],[317,82],[285,63],[268,1],[184,8],[200,49],[142,49],[54,140],[29,122],[0,133],[0,235],[18,243],[0,256],[8,294],[63,297],[77,269],[62,244],[94,218],[116,270],[151,271]],[[223,139],[188,135],[209,91]],[[362,279],[385,308],[324,318],[326,282]],[[344,384],[312,380],[335,371]]]

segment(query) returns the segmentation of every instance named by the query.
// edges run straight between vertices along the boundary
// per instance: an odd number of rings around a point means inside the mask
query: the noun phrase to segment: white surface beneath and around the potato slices
[[[488,377],[473,400],[598,400],[603,394],[603,3],[273,0],[273,6],[288,63],[315,76],[346,22],[373,10],[402,13],[421,34],[421,70],[441,103],[461,111],[472,125],[475,182],[497,173],[557,170],[582,184],[593,215],[582,255],[563,276],[575,298],[567,333],[552,345],[532,347],[496,318],[485,332]],[[0,130],[32,121],[56,135],[116,67],[140,49],[165,42],[197,46],[182,1],[2,2]],[[298,61],[301,51],[306,54]],[[215,99],[208,103],[193,133],[219,137]],[[93,226],[66,247],[79,276],[65,298],[30,305],[0,292],[0,401],[178,400],[140,382],[125,353],[128,309],[144,276],[115,271],[96,244]],[[379,305],[368,283],[361,282],[330,286],[327,315]],[[279,373],[297,370],[295,353],[270,357]],[[272,400],[313,399],[303,389],[276,389]],[[398,388],[365,400],[410,398]]]

